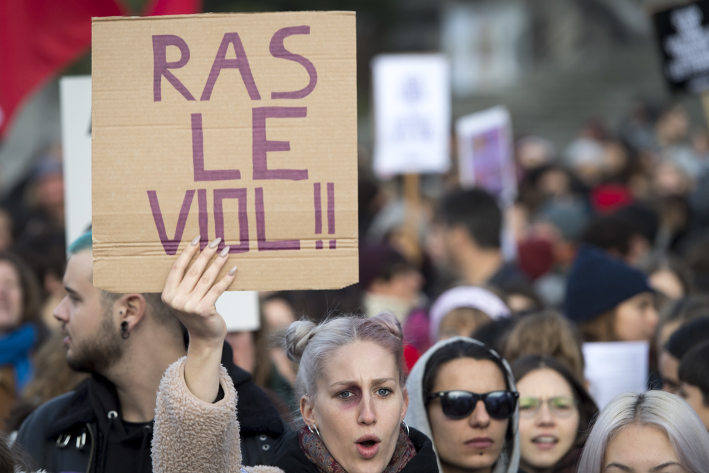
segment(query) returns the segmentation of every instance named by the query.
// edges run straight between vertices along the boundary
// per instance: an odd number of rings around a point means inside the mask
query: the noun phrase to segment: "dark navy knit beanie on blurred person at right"
[[[652,291],[642,272],[603,250],[584,245],[566,280],[566,317],[576,323],[588,322],[632,296]]]

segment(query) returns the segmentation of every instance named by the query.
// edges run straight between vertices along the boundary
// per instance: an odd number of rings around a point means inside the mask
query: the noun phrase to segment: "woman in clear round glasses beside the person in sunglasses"
[[[527,355],[512,363],[520,393],[520,467],[526,473],[574,473],[598,414],[584,386],[562,362]]]

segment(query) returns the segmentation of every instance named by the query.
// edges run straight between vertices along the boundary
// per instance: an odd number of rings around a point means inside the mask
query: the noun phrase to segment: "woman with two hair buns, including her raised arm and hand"
[[[408,406],[403,335],[391,314],[289,326],[286,353],[298,362],[302,421],[274,447],[273,466],[243,467],[238,394],[220,367],[226,325],[215,306],[237,277],[236,267],[218,279],[228,247],[216,255],[214,245],[188,270],[199,251],[196,243],[178,257],[162,292],[189,332],[189,348],[166,370],[157,394],[154,472],[435,472],[431,441],[403,423]]]

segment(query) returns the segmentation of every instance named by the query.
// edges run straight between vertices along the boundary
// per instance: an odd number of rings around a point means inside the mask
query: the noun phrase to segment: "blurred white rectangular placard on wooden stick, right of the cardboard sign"
[[[374,172],[440,173],[450,167],[450,66],[444,55],[379,55],[374,79]]]

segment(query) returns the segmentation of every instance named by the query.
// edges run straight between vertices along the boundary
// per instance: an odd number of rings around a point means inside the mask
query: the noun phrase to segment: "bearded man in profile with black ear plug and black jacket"
[[[40,406],[21,426],[18,442],[51,472],[151,472],[157,388],[165,369],[186,355],[182,324],[160,294],[96,289],[91,247],[91,232],[69,247],[67,296],[54,311],[67,362],[91,377]],[[230,350],[224,351],[229,360]],[[245,459],[268,463],[252,454],[268,452],[283,423],[250,376],[225,360],[239,391]]]

